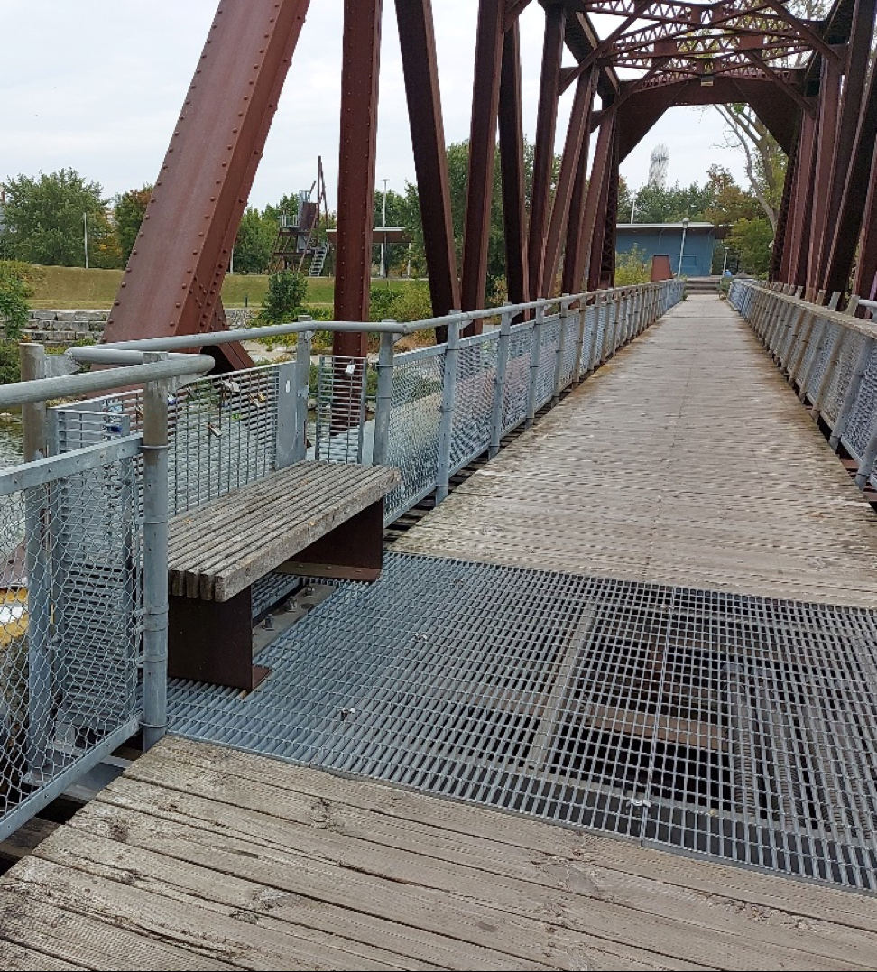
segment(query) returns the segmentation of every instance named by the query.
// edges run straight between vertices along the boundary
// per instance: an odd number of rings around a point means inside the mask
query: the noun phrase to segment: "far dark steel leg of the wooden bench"
[[[384,501],[366,506],[287,560],[278,573],[377,580],[384,567]]]

